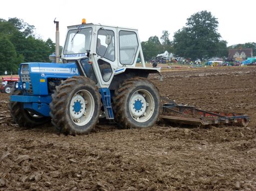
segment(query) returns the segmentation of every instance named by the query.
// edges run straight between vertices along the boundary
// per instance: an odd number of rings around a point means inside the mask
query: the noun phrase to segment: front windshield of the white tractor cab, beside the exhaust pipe
[[[92,28],[70,30],[66,37],[63,53],[86,53],[86,50],[90,50],[91,36]]]

